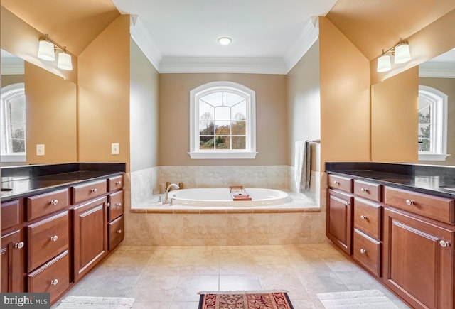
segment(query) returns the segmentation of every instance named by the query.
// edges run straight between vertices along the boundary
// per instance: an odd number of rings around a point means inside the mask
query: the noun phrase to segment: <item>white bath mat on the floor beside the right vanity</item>
[[[326,309],[368,308],[393,309],[398,308],[387,296],[378,290],[348,291],[335,293],[319,293],[319,300]]]

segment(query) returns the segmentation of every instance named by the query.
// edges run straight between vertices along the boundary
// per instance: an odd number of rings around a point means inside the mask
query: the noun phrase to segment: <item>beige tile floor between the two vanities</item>
[[[316,293],[365,289],[408,308],[331,244],[120,246],[65,296],[132,297],[134,309],[197,309],[198,291],[270,289],[288,290],[295,309],[323,308]]]

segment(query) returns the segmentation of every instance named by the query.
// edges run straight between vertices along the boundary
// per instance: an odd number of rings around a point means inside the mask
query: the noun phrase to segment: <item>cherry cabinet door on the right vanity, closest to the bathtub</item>
[[[328,239],[351,254],[353,196],[328,190],[326,234]]]

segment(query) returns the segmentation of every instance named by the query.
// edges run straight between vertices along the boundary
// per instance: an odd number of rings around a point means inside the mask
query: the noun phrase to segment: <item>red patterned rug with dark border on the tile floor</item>
[[[199,292],[199,309],[293,309],[287,291]]]

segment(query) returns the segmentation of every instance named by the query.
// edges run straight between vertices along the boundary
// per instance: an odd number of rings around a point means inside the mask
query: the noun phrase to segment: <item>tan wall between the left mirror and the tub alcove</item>
[[[129,171],[129,16],[119,16],[79,57],[80,162],[127,162]],[[111,143],[120,154],[111,155]]]

